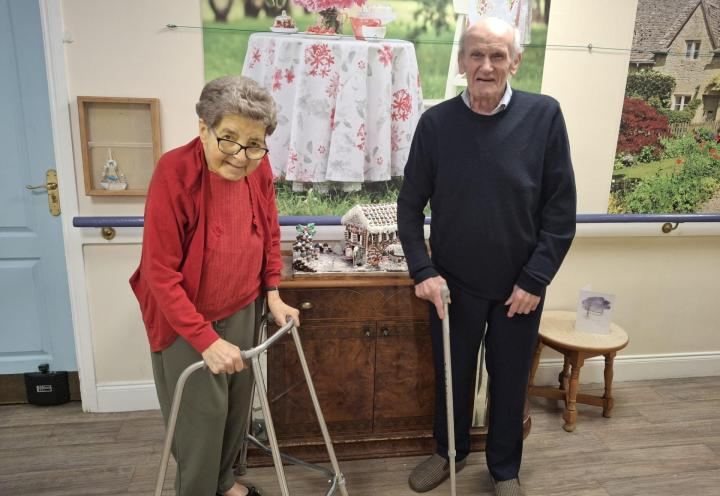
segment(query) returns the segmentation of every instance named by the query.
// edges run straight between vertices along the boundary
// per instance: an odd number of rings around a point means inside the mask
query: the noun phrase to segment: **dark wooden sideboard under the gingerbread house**
[[[407,276],[307,277],[281,296],[301,308],[300,336],[341,460],[432,453],[434,371],[427,303]],[[273,332],[271,329],[269,332]],[[291,337],[268,351],[267,383],[283,452],[327,459]],[[474,450],[486,430],[474,428]],[[251,449],[248,464],[272,460]]]

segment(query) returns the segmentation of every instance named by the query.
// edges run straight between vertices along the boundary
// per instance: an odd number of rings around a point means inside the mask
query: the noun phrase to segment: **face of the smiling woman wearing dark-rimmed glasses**
[[[203,143],[205,161],[211,172],[228,181],[239,181],[255,172],[262,159],[248,159],[245,150],[235,155],[227,155],[220,151],[218,138],[234,141],[242,146],[267,148],[263,123],[230,114],[223,117],[217,126],[210,128],[200,119],[200,141]]]

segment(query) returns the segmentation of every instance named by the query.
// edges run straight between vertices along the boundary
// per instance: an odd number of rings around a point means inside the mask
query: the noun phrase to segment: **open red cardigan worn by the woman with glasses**
[[[161,351],[178,336],[202,353],[219,337],[198,313],[206,235],[208,174],[199,138],[160,157],[145,203],[140,266],[130,286],[140,303],[150,349]],[[253,224],[264,239],[263,286],[280,283],[280,226],[267,156],[248,176]],[[259,289],[259,288],[258,288]]]

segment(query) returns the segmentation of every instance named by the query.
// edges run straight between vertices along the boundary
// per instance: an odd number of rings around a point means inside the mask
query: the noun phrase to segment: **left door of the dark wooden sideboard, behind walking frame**
[[[370,433],[375,322],[303,321],[300,339],[330,433]],[[320,435],[292,336],[269,349],[267,370],[268,398],[278,436]]]

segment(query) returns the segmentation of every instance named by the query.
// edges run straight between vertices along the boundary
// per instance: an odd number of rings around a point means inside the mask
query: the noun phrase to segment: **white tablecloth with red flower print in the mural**
[[[242,73],[277,103],[276,176],[349,190],[402,175],[422,111],[412,43],[255,33]]]

